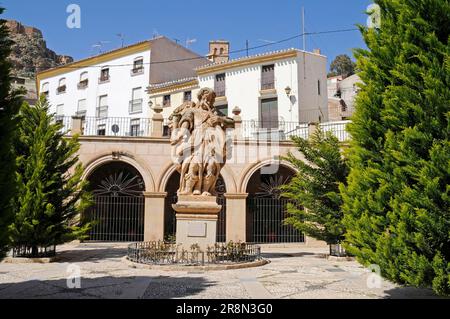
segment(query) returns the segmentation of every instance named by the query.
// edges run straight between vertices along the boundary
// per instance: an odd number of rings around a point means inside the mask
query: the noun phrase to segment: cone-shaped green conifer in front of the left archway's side
[[[78,216],[90,203],[90,194],[81,179],[77,137],[64,137],[45,98],[35,107],[24,104],[20,115],[18,194],[10,233],[13,247],[37,257],[39,248],[83,238],[89,225],[80,224]]]

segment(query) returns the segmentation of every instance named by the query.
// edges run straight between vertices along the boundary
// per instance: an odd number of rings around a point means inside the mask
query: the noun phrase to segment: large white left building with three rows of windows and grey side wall
[[[191,60],[164,63],[183,59]],[[194,67],[207,62],[160,37],[41,72],[37,86],[65,129],[79,116],[84,135],[148,136],[152,112],[147,87],[192,76]]]

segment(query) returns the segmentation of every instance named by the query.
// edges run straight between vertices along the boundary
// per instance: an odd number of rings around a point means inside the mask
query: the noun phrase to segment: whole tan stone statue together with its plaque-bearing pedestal
[[[199,91],[198,101],[185,102],[169,118],[172,158],[180,172],[177,212],[177,242],[187,246],[215,243],[217,215],[215,186],[229,150],[226,130],[234,120],[219,114],[216,94]],[[202,245],[203,244],[203,245]]]

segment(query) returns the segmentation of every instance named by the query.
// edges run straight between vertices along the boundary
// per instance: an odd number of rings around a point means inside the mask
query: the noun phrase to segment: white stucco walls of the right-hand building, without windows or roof
[[[261,99],[278,99],[278,116],[287,122],[309,122],[309,117],[299,118],[299,111],[304,114],[324,114],[322,121],[328,119],[326,57],[301,52],[297,57],[275,60],[273,62],[255,63],[250,66],[230,68],[214,74],[199,76],[200,87],[214,88],[216,74],[226,74],[226,101],[220,99],[216,104],[228,103],[229,116],[234,107],[242,110],[243,121],[260,120]],[[303,64],[305,61],[305,65]],[[261,92],[261,72],[264,65],[275,64],[275,90]],[[321,95],[318,95],[317,81],[321,81]],[[291,88],[291,98],[286,95],[286,87]],[[317,120],[317,119],[316,119]]]

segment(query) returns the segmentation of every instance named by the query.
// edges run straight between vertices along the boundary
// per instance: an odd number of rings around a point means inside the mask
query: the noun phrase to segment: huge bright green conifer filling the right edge
[[[399,284],[450,294],[450,2],[376,0],[342,187],[347,250]]]

